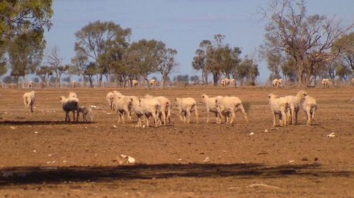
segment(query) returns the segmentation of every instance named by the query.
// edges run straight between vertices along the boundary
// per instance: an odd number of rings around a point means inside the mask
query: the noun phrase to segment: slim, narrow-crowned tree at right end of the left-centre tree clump
[[[159,73],[161,73],[161,85],[162,87],[165,87],[165,81],[169,73],[171,73],[171,70],[173,68],[176,68],[177,63],[175,61],[175,57],[177,54],[176,49],[167,49],[164,50],[164,54],[162,55],[162,61],[161,64],[158,66],[157,70]]]

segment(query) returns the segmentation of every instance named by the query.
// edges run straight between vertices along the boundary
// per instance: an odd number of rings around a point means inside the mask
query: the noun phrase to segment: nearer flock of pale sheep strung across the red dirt
[[[125,123],[126,118],[132,120],[132,116],[137,117],[137,127],[142,127],[142,119],[149,126],[149,118],[153,118],[154,125],[171,124],[172,103],[166,97],[153,97],[149,94],[139,98],[135,96],[125,96],[120,92],[113,91],[106,95],[106,99],[111,111],[118,113],[118,123],[122,120]],[[245,111],[241,99],[238,97],[209,97],[202,94],[202,102],[207,110],[207,123],[210,121],[210,113],[215,114],[216,123],[232,124],[234,122],[235,113],[241,111],[244,115],[246,123],[249,118]],[[297,124],[297,115],[300,109],[303,109],[307,115],[307,125],[312,125],[314,115],[316,113],[317,104],[313,97],[307,95],[304,91],[299,91],[296,96],[277,97],[275,94],[269,94],[268,100],[271,112],[273,113],[273,125],[277,124],[277,116],[280,125]],[[33,104],[35,102],[35,91],[23,94],[25,110],[30,108],[33,112]],[[79,120],[79,113],[82,114],[84,122],[93,121],[93,111],[89,106],[79,106],[79,99],[74,92],[69,92],[68,97],[59,97],[62,109],[65,111],[65,121],[70,121],[69,113],[73,113],[74,121]],[[178,107],[178,116],[183,123],[190,123],[191,114],[195,113],[195,122],[198,123],[198,106],[197,101],[191,97],[176,98],[174,104]],[[75,118],[76,116],[76,118]]]

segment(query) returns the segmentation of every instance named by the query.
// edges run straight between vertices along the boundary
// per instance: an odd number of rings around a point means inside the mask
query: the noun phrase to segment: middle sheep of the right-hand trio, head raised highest
[[[290,122],[290,124],[294,123],[297,124],[297,115],[299,113],[300,109],[300,101],[307,95],[307,92],[304,92],[303,90],[300,90],[297,92],[296,96],[287,96],[284,97],[285,100],[288,102],[290,105],[290,111],[287,113],[287,120]]]

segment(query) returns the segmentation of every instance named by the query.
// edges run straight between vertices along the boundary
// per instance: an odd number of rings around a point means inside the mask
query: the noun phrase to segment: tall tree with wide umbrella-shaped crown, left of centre
[[[89,61],[96,63],[99,87],[101,87],[103,75],[109,73],[108,59],[104,54],[108,48],[117,46],[117,42],[118,44],[125,43],[130,34],[129,28],[122,29],[120,25],[113,22],[101,22],[100,20],[89,23],[75,33],[77,42],[75,42],[74,50],[80,56],[86,56]]]

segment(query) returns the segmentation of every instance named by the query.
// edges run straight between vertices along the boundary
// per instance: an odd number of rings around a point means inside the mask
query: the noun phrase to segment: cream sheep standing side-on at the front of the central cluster
[[[132,102],[132,109],[134,109],[137,115],[137,125],[142,126],[141,117],[146,119],[147,126],[149,126],[149,117],[154,118],[154,125],[157,125],[157,116],[160,111],[160,103],[156,99],[137,99],[130,98]]]

